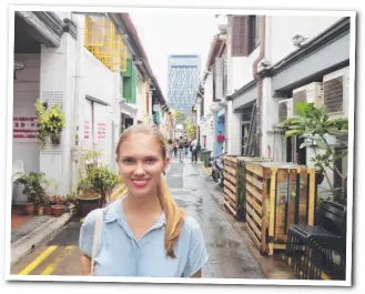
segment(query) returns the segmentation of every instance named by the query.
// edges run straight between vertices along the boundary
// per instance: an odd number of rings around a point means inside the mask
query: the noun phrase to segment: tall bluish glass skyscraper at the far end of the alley
[[[200,84],[200,55],[169,55],[170,109],[191,114]]]

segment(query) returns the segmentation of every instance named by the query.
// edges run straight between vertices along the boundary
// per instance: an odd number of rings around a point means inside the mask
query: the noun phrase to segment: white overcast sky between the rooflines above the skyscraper
[[[131,18],[166,100],[169,54],[200,54],[203,72],[211,42],[217,33],[214,14],[151,11],[131,13]]]

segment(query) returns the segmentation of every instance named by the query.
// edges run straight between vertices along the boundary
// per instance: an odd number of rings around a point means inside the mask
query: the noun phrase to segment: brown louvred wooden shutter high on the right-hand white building
[[[232,57],[249,55],[249,16],[232,18]]]

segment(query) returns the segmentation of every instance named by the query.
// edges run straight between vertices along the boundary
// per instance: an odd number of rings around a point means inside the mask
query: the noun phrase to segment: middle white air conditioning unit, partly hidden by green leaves
[[[323,107],[323,84],[322,82],[313,82],[301,88],[293,90],[293,107],[294,114],[296,113],[295,107],[297,102],[314,103],[314,107]]]

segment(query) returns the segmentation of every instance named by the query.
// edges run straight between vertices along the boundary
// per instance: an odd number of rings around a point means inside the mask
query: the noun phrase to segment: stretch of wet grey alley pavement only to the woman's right
[[[211,195],[207,185],[213,180],[206,178],[200,165],[191,164],[189,158],[185,163],[175,160],[166,178],[178,205],[201,225],[209,254],[203,277],[265,278],[223,207]]]

